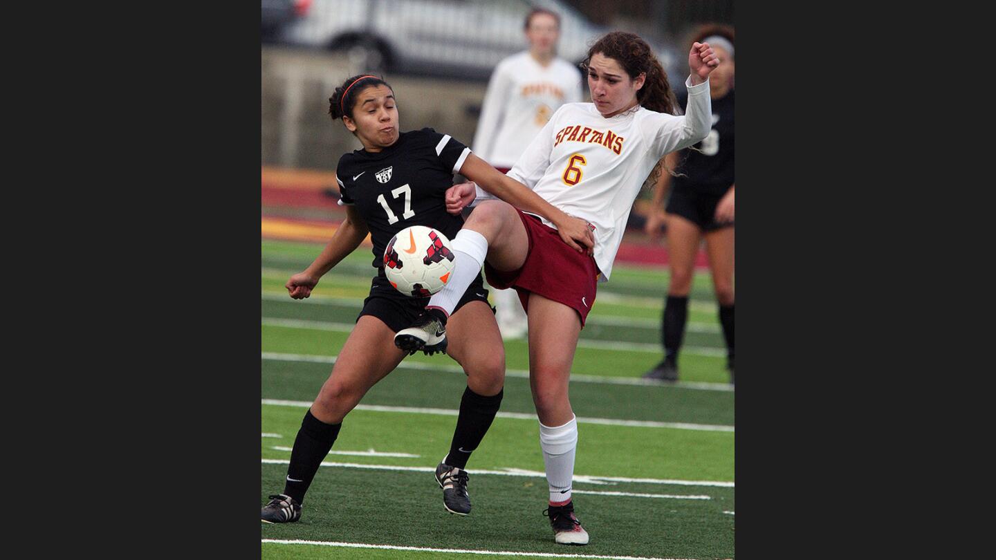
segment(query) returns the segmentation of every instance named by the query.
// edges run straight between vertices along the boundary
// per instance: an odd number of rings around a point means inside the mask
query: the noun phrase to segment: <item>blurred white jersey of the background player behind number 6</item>
[[[511,167],[554,111],[582,101],[581,84],[581,72],[563,59],[543,66],[526,51],[501,61],[488,81],[474,153],[495,167]]]

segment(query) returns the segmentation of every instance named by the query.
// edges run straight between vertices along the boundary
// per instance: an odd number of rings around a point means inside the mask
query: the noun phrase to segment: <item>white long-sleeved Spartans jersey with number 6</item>
[[[636,106],[611,119],[595,104],[561,107],[508,176],[561,210],[595,226],[595,262],[609,280],[632,202],[665,154],[704,139],[712,127],[709,83],[688,88],[685,115]],[[477,199],[494,196],[477,187]],[[543,223],[556,227],[549,220]]]

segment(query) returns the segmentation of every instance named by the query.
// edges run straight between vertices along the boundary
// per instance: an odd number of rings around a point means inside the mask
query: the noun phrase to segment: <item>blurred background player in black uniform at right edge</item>
[[[664,359],[643,374],[646,379],[676,381],[677,355],[688,317],[688,293],[695,272],[695,254],[705,238],[712,285],[719,304],[719,321],[726,340],[727,369],[733,383],[733,29],[706,25],[697,29],[691,42],[708,43],[719,56],[712,71],[712,131],[692,148],[668,153],[663,161],[677,176],[654,168],[653,204],[645,230],[656,238],[666,221],[670,283],[662,319]],[[681,102],[682,105],[684,102]],[[673,182],[667,213],[661,202]]]

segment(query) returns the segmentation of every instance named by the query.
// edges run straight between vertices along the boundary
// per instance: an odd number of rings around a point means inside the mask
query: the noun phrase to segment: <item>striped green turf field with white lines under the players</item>
[[[322,245],[262,245],[261,502],[283,490],[302,416],[370,287],[361,247],[303,301],[283,285]],[[447,513],[432,471],[449,448],[465,376],[447,356],[406,358],[343,422],[297,523],[262,527],[264,558],[732,558],[734,392],[707,274],[696,274],[674,385],[660,359],[667,272],[617,262],[599,286],[572,369],[574,500],[591,534],[553,542],[527,347],[507,341],[501,411],[467,464],[473,510]],[[538,555],[538,556],[537,556]]]

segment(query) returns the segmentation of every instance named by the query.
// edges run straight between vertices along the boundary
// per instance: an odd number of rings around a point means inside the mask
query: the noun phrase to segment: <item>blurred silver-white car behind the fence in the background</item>
[[[264,2],[265,6],[266,2]],[[274,42],[345,52],[367,71],[487,80],[505,57],[526,49],[523,23],[534,7],[561,17],[558,54],[584,60],[608,28],[560,0],[312,0]],[[673,56],[653,46],[665,69]]]

